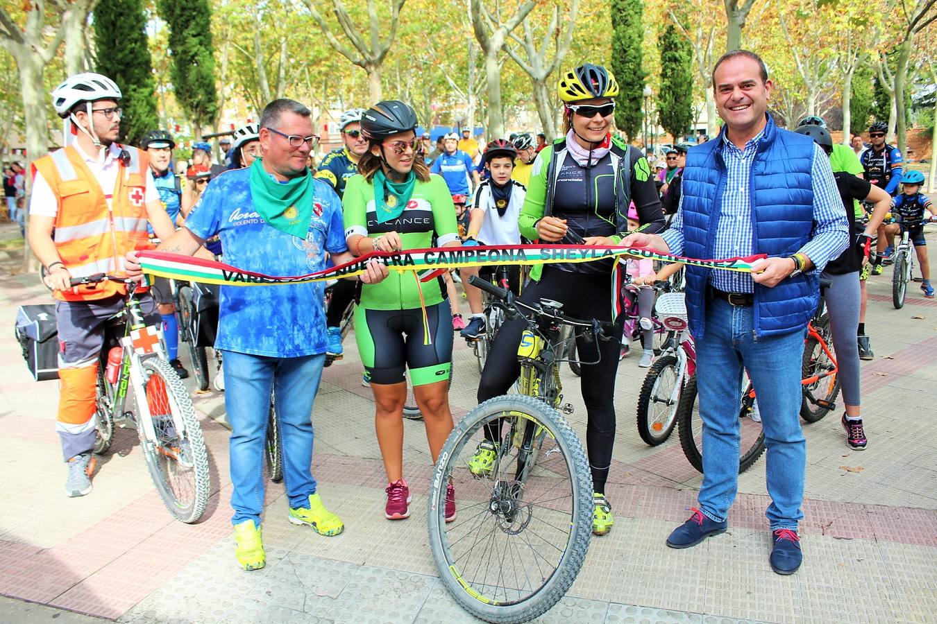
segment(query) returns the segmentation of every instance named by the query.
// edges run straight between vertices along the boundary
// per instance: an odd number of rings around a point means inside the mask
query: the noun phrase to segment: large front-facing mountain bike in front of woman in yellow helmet
[[[453,429],[430,485],[429,542],[442,584],[470,614],[527,621],[573,584],[592,530],[586,452],[560,414],[573,412],[562,402],[560,327],[573,326],[592,341],[616,340],[616,326],[573,319],[557,301],[525,303],[474,276],[470,283],[495,297],[506,318],[524,322],[521,395],[489,399]],[[494,449],[491,462],[472,467],[483,444]],[[450,483],[458,516],[447,524]]]

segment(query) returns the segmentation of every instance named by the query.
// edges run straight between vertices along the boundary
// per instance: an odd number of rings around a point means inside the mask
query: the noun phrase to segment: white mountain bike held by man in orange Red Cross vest
[[[147,470],[166,508],[182,522],[196,522],[208,502],[211,477],[195,409],[166,359],[161,330],[146,324],[137,284],[103,273],[73,278],[71,284],[105,280],[126,283],[127,294],[124,307],[107,321],[98,356],[95,452],[102,454],[111,447],[115,425],[131,423],[137,428]],[[119,356],[119,365],[109,366],[111,354]],[[131,389],[136,412],[125,411]]]

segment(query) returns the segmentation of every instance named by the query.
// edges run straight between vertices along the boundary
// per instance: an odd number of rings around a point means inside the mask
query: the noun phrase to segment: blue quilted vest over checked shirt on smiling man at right
[[[719,225],[727,170],[722,160],[723,135],[692,148],[683,169],[684,254],[711,258]],[[781,130],[767,116],[765,134],[751,164],[752,253],[795,254],[811,238],[813,140]],[[687,312],[697,340],[706,327],[706,286],[709,271],[686,268]],[[774,288],[755,284],[755,336],[786,334],[807,326],[820,297],[819,276],[802,274]]]

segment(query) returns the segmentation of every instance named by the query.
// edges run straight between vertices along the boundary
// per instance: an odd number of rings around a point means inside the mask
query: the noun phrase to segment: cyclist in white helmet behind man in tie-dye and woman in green
[[[338,128],[344,145],[326,154],[316,171],[316,177],[329,182],[339,199],[345,195],[345,184],[358,172],[358,162],[367,152],[367,138],[361,133],[362,113],[364,109],[349,109],[342,113]],[[344,354],[342,315],[348,309],[354,293],[355,283],[348,280],[339,280],[332,288],[332,300],[325,314],[325,323],[329,332],[329,350],[326,355],[333,359],[341,359]]]

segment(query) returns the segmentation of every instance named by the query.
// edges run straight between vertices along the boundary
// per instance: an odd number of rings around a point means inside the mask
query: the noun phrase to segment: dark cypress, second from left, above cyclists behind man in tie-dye
[[[156,7],[170,27],[176,100],[201,128],[217,114],[212,9],[208,0],[156,0]]]

